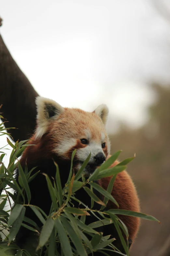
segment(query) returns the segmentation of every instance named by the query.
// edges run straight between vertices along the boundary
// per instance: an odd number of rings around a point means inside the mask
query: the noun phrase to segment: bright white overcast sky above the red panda
[[[147,85],[170,81],[170,21],[152,2],[6,0],[0,32],[40,95],[87,111],[106,103],[113,132],[118,119],[142,125]]]

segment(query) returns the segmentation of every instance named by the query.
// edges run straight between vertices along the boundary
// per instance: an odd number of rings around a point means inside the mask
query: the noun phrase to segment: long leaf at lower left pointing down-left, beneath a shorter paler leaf
[[[21,227],[24,215],[25,215],[25,207],[22,208],[20,215],[14,221],[14,223],[13,223],[13,225],[11,227],[11,231],[10,231],[9,237],[8,237],[9,238],[9,242],[11,242],[14,239],[14,237],[16,236],[16,234],[18,233],[18,231],[19,231],[19,229]]]

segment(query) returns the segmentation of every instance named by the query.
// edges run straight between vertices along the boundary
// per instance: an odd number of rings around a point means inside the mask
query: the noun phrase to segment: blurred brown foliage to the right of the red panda
[[[155,226],[142,221],[132,256],[157,255],[170,234],[170,86],[153,84],[152,88],[157,99],[147,110],[148,122],[139,129],[120,124],[119,132],[110,136],[112,152],[121,148],[122,158],[136,153],[128,172],[135,182],[141,211],[162,223]]]

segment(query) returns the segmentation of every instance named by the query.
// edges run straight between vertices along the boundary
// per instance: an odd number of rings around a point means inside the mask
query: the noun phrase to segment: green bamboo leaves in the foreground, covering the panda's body
[[[4,132],[3,123],[0,124],[1,135],[7,134]],[[0,136],[1,136],[0,135]],[[7,145],[12,148],[9,164],[7,168],[3,163],[5,153],[2,152],[0,156],[0,255],[17,255],[17,256],[32,256],[28,251],[21,250],[15,244],[15,236],[18,233],[21,226],[32,230],[39,236],[39,244],[37,247],[37,255],[45,256],[72,256],[80,255],[87,256],[93,255],[93,252],[100,252],[103,255],[109,255],[110,251],[118,251],[117,255],[129,255],[128,249],[128,230],[124,223],[120,221],[117,214],[124,214],[135,216],[147,220],[158,221],[152,216],[136,213],[125,210],[109,210],[104,211],[108,200],[114,202],[117,206],[118,203],[111,196],[111,191],[114,185],[116,175],[126,169],[126,164],[131,162],[134,158],[129,158],[118,164],[117,166],[108,169],[108,167],[118,158],[120,151],[112,155],[100,168],[97,168],[95,172],[85,179],[83,175],[83,169],[87,165],[90,155],[83,163],[78,173],[74,174],[72,165],[70,174],[62,189],[60,182],[60,173],[56,164],[56,177],[54,177],[54,184],[52,184],[47,174],[47,186],[50,192],[52,205],[49,216],[47,216],[40,208],[34,205],[25,204],[25,195],[28,198],[28,202],[31,200],[31,193],[29,189],[29,182],[35,178],[39,173],[35,173],[31,176],[31,172],[23,171],[18,158],[21,156],[26,146],[34,146],[25,144],[26,141],[16,142],[13,145],[9,139],[7,139]],[[73,151],[72,162],[76,151]],[[18,166],[19,169],[19,184],[14,179],[14,171]],[[102,189],[99,185],[94,183],[94,180],[101,179],[103,177],[113,176],[110,180],[107,191]],[[88,184],[88,187],[87,187]],[[89,187],[90,186],[90,187]],[[72,200],[77,200],[74,193],[80,188],[91,196],[91,208],[85,206],[82,202],[79,202],[79,208],[74,208]],[[12,189],[12,190],[11,190]],[[104,195],[104,200],[101,201],[94,193],[93,189]],[[13,190],[18,192],[16,195]],[[101,205],[99,211],[92,210],[94,201]],[[81,207],[82,206],[82,207]],[[84,209],[85,206],[85,209]],[[30,207],[32,211],[37,215],[38,219],[42,222],[42,229],[40,230],[37,224],[30,218],[24,216],[26,207]],[[83,208],[83,209],[81,209]],[[6,210],[5,210],[6,209]],[[104,214],[105,213],[105,214]],[[96,216],[96,221],[85,225],[86,216],[93,214]],[[100,217],[99,217],[100,216]],[[101,232],[97,232],[95,228],[103,225],[114,223],[116,230],[120,236],[122,246],[126,254],[121,253],[112,242],[114,238],[110,236],[103,236]],[[122,232],[125,234],[127,241],[125,241]],[[60,244],[60,253],[57,251]]]

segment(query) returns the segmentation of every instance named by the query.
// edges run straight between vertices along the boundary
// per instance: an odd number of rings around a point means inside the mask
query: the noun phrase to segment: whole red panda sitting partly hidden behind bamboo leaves
[[[41,173],[47,173],[50,177],[55,177],[56,168],[53,162],[55,160],[59,166],[61,182],[64,187],[68,179],[71,155],[74,149],[76,149],[73,162],[75,172],[79,170],[90,152],[90,161],[84,169],[86,176],[91,175],[96,167],[105,162],[110,156],[110,142],[105,128],[108,108],[103,104],[93,112],[85,112],[80,109],[63,108],[55,101],[43,97],[36,98],[36,105],[37,127],[30,142],[35,145],[26,147],[20,163],[24,169],[26,162],[28,171],[37,166],[32,174],[40,170],[35,179],[29,183],[32,195],[30,204],[37,205],[49,214],[51,199],[46,178]],[[116,164],[118,164],[118,161],[114,162],[112,166]],[[18,171],[16,171],[16,179],[18,179]],[[110,179],[111,177],[103,178],[98,180],[97,183],[107,189]],[[118,202],[120,209],[139,212],[139,200],[135,186],[126,171],[117,175],[112,195]],[[101,195],[99,196],[102,198]],[[91,205],[91,198],[83,189],[78,191],[76,197],[85,205]],[[75,207],[78,207],[76,203]],[[99,205],[96,203],[94,208],[100,209],[98,207]],[[116,205],[109,201],[106,209],[115,208]],[[29,207],[26,209],[26,216],[35,220],[38,226],[42,226]],[[119,217],[128,228],[130,240],[134,241],[139,229],[139,219],[124,215]],[[88,218],[86,224],[96,221],[92,216],[88,216]],[[104,235],[116,236],[113,224],[102,227],[102,231]],[[29,240],[28,233],[28,230],[22,227],[16,236],[16,241],[21,248],[25,248],[26,241]],[[114,245],[120,248],[118,241],[119,238]]]

